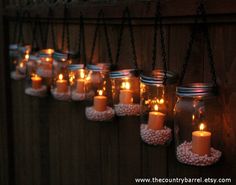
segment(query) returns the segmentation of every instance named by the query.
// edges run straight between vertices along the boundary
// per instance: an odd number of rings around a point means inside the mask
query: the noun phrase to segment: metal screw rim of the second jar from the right
[[[148,85],[162,85],[164,82],[165,71],[162,69],[155,69],[151,72],[142,73],[140,80],[144,84]],[[177,73],[173,71],[166,71],[166,83],[174,84],[178,80]]]

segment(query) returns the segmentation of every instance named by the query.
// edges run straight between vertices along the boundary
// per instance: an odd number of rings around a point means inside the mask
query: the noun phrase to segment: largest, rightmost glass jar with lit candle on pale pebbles
[[[221,157],[222,110],[211,84],[177,87],[174,108],[176,157],[184,164],[208,166]]]

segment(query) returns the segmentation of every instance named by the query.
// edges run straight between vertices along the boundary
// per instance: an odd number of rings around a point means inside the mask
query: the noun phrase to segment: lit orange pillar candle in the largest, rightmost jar
[[[199,125],[199,131],[192,132],[192,151],[200,156],[209,155],[211,148],[211,132],[204,131],[205,124]]]

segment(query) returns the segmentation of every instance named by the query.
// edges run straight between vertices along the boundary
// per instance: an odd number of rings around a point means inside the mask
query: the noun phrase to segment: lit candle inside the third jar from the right
[[[120,90],[120,103],[122,104],[132,104],[133,103],[133,96],[132,90],[130,90],[130,83],[129,82],[122,82]]]

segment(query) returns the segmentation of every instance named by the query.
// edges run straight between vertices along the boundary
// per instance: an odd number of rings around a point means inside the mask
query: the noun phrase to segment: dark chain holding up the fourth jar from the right
[[[103,10],[100,10],[99,13],[98,13],[97,24],[96,24],[96,28],[95,28],[94,37],[93,37],[92,50],[91,50],[91,55],[90,55],[90,60],[89,60],[90,64],[92,63],[92,60],[93,60],[93,55],[94,55],[94,52],[95,52],[96,40],[97,40],[97,35],[98,35],[101,20],[102,20],[102,25],[103,25],[103,28],[104,28],[104,33],[105,33],[108,57],[109,57],[110,63],[111,64],[113,63],[110,40],[109,40],[109,36],[108,36],[106,22],[105,22],[104,19],[105,19],[104,18],[104,12],[103,12]]]

